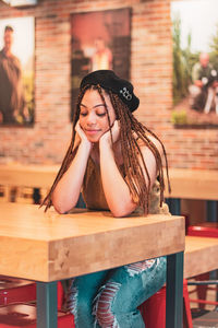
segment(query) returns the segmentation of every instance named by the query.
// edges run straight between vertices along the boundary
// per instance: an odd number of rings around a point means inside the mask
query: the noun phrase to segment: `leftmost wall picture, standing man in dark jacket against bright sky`
[[[34,17],[0,20],[0,127],[34,124]]]

